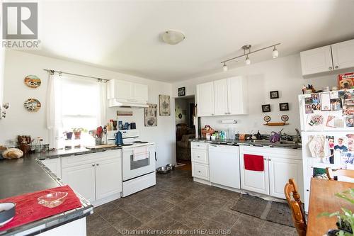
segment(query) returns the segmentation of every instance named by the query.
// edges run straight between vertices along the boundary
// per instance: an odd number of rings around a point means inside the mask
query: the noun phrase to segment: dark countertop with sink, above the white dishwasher
[[[206,140],[205,138],[194,138],[190,139],[190,142],[207,142],[213,145],[232,145],[232,146],[239,146],[239,145],[246,145],[246,146],[253,146],[253,147],[277,147],[277,148],[287,148],[287,149],[302,149],[301,144],[297,145],[283,145],[280,143],[262,143],[262,142],[251,142],[251,140]]]

